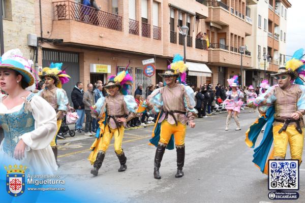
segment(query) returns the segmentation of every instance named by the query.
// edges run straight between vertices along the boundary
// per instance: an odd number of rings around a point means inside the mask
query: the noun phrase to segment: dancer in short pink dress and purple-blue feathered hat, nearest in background
[[[232,90],[226,92],[227,98],[224,100],[224,104],[226,105],[225,108],[228,110],[225,130],[228,130],[232,114],[237,125],[237,128],[235,130],[241,130],[237,114],[240,112],[240,107],[243,105],[243,102],[241,100],[243,98],[243,93],[239,89],[237,89],[237,87],[239,86],[238,76],[233,76],[233,78],[228,79],[227,81]]]

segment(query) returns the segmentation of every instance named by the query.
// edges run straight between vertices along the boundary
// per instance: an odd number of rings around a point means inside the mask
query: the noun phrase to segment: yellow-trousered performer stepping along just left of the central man
[[[137,103],[132,95],[128,95],[132,82],[127,68],[117,76],[110,76],[108,84],[104,86],[110,95],[99,98],[96,106],[92,107],[93,116],[100,119],[96,140],[90,147],[92,152],[88,157],[94,166],[91,170],[94,176],[98,175],[112,137],[114,137],[114,151],[120,163],[118,172],[127,169],[127,158],[121,146],[126,123],[136,116]],[[125,118],[125,115],[128,117]]]

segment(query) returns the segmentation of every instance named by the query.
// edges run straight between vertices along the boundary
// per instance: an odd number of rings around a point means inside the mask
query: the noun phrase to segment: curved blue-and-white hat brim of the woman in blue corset
[[[23,76],[23,81],[28,84],[28,86],[32,86],[34,84],[35,78],[33,74],[25,67],[22,63],[13,60],[13,59],[6,59],[1,61],[0,59],[0,68],[7,68],[14,71],[17,71]]]

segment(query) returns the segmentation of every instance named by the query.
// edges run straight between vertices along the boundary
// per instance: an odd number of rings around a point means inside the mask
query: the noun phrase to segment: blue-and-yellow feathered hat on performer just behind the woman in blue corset
[[[55,85],[58,88],[62,88],[62,85],[69,82],[70,76],[66,74],[66,71],[62,71],[63,63],[51,62],[49,67],[44,67],[42,72],[44,77],[50,77],[55,80]]]

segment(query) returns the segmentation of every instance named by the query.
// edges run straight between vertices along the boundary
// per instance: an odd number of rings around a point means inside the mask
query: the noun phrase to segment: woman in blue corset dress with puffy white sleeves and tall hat
[[[33,174],[53,174],[57,165],[50,142],[56,132],[56,113],[43,98],[25,90],[34,84],[32,65],[19,49],[0,57],[0,85],[8,94],[0,96],[0,125],[4,130],[0,165],[14,164],[22,170],[26,166]]]

